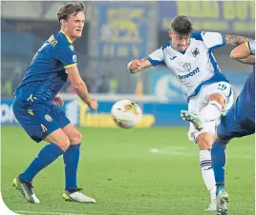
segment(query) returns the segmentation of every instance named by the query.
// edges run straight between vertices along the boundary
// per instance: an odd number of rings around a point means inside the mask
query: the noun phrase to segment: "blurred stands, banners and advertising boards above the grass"
[[[2,5],[1,124],[15,124],[11,112],[14,88],[21,82],[32,56],[59,30],[59,2],[7,2]],[[65,109],[75,125],[114,127],[110,108],[118,99],[133,99],[145,117],[139,127],[182,126],[179,111],[186,108],[179,82],[166,68],[130,75],[126,65],[168,42],[170,20],[190,15],[194,29],[218,30],[254,37],[254,2],[86,2],[83,36],[75,41],[78,68],[89,91],[99,101],[97,113],[77,101],[68,83]],[[203,12],[200,12],[203,11]],[[232,47],[214,51],[217,62],[241,90],[251,67],[229,58]],[[75,109],[75,110],[74,110]]]

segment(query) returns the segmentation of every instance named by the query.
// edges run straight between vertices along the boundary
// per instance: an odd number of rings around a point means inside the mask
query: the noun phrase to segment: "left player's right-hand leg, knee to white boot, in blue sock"
[[[76,174],[79,163],[80,143],[82,141],[81,133],[72,125],[69,124],[63,127],[62,130],[69,137],[71,146],[63,154],[65,164],[65,191],[62,197],[66,201],[74,201],[79,203],[96,203],[96,200],[84,195],[80,188],[77,188]]]

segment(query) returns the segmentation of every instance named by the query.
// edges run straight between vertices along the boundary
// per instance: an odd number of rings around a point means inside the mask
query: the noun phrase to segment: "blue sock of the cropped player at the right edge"
[[[218,140],[213,143],[211,148],[212,167],[217,186],[217,195],[221,188],[224,188],[224,167],[225,167],[225,148],[226,142]]]

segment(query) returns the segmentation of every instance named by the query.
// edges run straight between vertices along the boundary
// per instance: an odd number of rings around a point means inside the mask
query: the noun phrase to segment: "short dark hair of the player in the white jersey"
[[[170,30],[179,34],[188,34],[193,31],[193,27],[188,16],[180,15],[172,20]]]

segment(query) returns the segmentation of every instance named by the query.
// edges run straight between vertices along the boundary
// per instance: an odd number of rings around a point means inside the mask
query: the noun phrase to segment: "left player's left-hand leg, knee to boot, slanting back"
[[[31,165],[12,181],[13,186],[24,195],[28,202],[33,204],[39,203],[32,189],[33,178],[43,168],[52,164],[70,145],[68,137],[60,128],[54,130],[45,140],[52,143],[43,147],[34,158]]]

